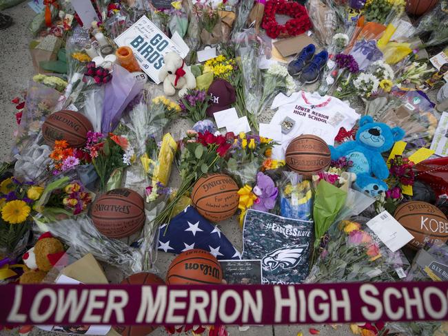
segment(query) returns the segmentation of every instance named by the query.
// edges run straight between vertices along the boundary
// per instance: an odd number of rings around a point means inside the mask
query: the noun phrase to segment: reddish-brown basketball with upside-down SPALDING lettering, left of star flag
[[[131,189],[113,189],[95,200],[91,217],[106,237],[128,237],[145,224],[143,198]]]

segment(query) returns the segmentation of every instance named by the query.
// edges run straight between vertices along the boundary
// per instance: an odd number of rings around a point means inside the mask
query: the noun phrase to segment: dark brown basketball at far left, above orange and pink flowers
[[[92,129],[92,124],[83,114],[62,110],[47,117],[42,125],[42,135],[50,146],[54,146],[54,140],[67,140],[71,147],[82,147],[87,132]]]

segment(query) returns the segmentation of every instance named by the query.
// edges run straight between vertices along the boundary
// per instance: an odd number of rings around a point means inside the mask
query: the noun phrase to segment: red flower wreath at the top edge
[[[275,14],[285,14],[292,17],[284,25],[279,25]],[[296,36],[303,34],[312,27],[305,6],[300,3],[285,0],[269,0],[265,6],[265,15],[261,28],[266,30],[267,36],[276,39],[278,36]]]

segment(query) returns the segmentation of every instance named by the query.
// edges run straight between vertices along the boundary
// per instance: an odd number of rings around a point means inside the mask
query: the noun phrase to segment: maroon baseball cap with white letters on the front
[[[225,79],[215,79],[207,90],[210,96],[210,106],[207,108],[207,116],[213,116],[215,112],[230,108],[235,103],[235,88]]]

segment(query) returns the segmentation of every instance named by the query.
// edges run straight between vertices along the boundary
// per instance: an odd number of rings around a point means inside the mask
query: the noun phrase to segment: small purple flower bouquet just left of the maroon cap
[[[179,99],[179,107],[181,107],[181,115],[186,116],[192,121],[198,121],[207,118],[207,107],[210,96],[207,96],[205,90],[189,89],[187,94]]]

